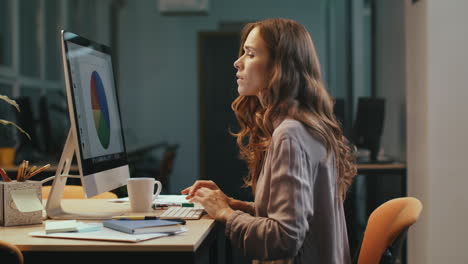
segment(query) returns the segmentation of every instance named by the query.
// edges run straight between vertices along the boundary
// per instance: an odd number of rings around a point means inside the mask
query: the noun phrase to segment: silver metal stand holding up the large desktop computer
[[[46,203],[47,216],[52,219],[111,219],[112,216],[119,215],[122,212],[83,213],[80,211],[66,211],[62,208],[62,196],[67,183],[67,178],[79,178],[83,183],[83,170],[81,167],[81,160],[78,158],[78,144],[75,133],[74,129],[70,128],[62,156],[60,157],[60,162],[57,166],[50,195]],[[69,174],[74,155],[77,156],[78,175]]]

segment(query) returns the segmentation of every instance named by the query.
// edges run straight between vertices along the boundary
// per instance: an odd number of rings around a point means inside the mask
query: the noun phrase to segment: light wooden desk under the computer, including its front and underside
[[[86,209],[88,212],[125,214],[130,211],[129,204],[111,203],[100,199],[63,200],[62,204],[67,209]],[[161,212],[155,210],[154,213],[144,215],[159,215]],[[23,252],[26,263],[94,263],[97,259],[105,263],[127,264],[148,260],[174,264],[208,261],[217,263],[215,221],[205,215],[200,220],[188,220],[185,227],[188,231],[182,234],[139,243],[39,238],[28,235],[29,232],[43,230],[42,223],[0,227],[0,239],[17,245]]]

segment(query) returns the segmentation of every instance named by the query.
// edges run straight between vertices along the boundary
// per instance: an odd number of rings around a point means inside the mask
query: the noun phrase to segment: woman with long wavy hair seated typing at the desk
[[[343,200],[356,168],[310,35],[287,19],[248,24],[234,67],[234,135],[255,202],[211,181],[182,194],[226,223],[231,243],[256,263],[349,263]]]

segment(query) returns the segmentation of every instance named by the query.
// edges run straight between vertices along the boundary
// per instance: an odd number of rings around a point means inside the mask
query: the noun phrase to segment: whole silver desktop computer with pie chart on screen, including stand
[[[111,215],[66,212],[61,198],[68,177],[81,179],[86,197],[126,185],[130,177],[111,51],[67,31],[61,32],[61,46],[70,132],[46,211],[51,218],[108,218]],[[74,156],[79,175],[69,175]]]

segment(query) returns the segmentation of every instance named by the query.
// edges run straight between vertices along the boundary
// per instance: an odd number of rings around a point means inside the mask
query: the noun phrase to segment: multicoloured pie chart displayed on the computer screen
[[[91,106],[99,141],[102,147],[107,149],[110,142],[109,108],[101,77],[96,71],[91,74]]]

